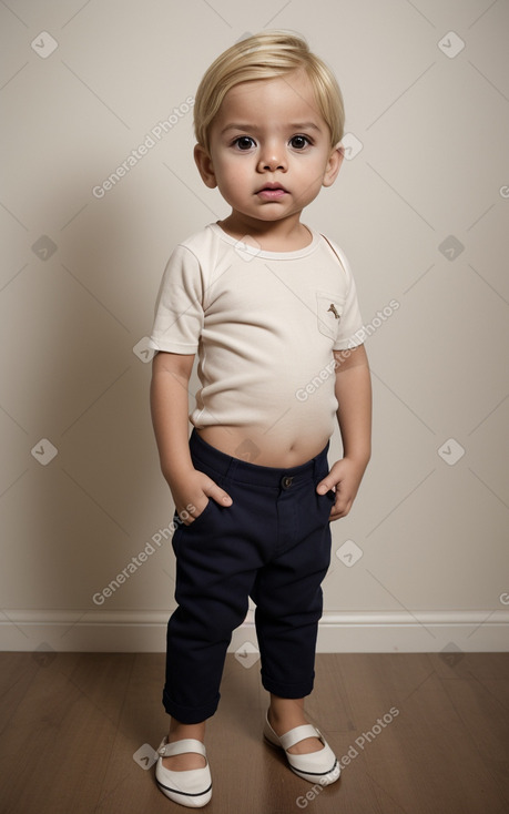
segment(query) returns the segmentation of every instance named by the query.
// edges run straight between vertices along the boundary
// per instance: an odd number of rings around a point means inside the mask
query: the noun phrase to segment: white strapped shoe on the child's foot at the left
[[[183,741],[167,742],[164,737],[157,753],[160,755],[155,765],[155,782],[162,793],[173,800],[174,803],[186,805],[189,808],[201,808],[212,797],[212,777],[208,762],[203,769],[190,769],[184,772],[172,772],[163,766],[163,757],[174,754],[195,752],[206,760],[205,746],[201,741],[186,737]]]

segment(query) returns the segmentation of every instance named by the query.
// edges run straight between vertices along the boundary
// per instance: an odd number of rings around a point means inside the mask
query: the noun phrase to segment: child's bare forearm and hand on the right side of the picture
[[[364,345],[335,350],[337,420],[344,457],[317,486],[322,494],[336,489],[330,520],[345,517],[355,500],[371,455],[371,380]]]

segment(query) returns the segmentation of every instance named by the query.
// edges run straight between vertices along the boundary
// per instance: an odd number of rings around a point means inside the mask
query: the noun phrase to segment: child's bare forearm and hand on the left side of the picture
[[[197,516],[210,498],[223,506],[228,506],[232,499],[212,478],[195,469],[191,460],[187,388],[193,362],[191,354],[156,354],[152,363],[150,399],[161,470],[175,509],[179,515],[185,510]],[[187,518],[187,521],[194,520]]]

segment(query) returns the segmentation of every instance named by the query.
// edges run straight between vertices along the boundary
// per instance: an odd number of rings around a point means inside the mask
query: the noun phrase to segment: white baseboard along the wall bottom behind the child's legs
[[[0,611],[0,650],[164,652],[171,611]],[[256,648],[252,611],[230,652]],[[253,651],[253,648],[248,647]],[[411,653],[509,650],[509,609],[325,612],[317,652]],[[255,652],[255,651],[254,651]]]

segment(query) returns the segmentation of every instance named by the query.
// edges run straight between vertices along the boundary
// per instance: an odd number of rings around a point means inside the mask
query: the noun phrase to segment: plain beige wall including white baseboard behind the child
[[[277,26],[344,91],[349,160],[305,221],[346,251],[374,328],[373,462],[333,526],[319,647],[505,649],[508,3],[9,0],[0,26],[0,644],[164,649],[169,542],[93,596],[173,513],[143,337],[175,243],[227,212],[186,100],[220,51]]]

